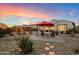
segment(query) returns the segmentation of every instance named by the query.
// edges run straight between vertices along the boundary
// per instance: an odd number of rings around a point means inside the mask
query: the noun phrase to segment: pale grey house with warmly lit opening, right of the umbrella
[[[57,30],[59,32],[66,32],[67,30],[72,29],[74,27],[73,22],[66,20],[53,19],[50,22],[54,24],[54,30]]]

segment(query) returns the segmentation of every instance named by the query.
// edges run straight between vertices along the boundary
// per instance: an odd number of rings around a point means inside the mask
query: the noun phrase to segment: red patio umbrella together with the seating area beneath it
[[[54,24],[51,22],[43,21],[40,23],[35,24],[37,27],[37,35],[41,36],[51,36],[53,34],[52,32],[54,31]]]

